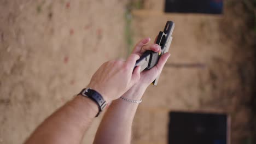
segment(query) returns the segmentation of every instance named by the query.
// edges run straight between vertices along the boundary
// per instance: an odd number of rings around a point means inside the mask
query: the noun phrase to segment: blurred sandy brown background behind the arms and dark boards
[[[0,0],[0,143],[22,143],[103,62],[125,58],[144,37],[154,39],[167,20],[176,23],[171,57],[158,86],[144,94],[132,143],[167,143],[170,111],[227,113],[231,143],[252,142],[251,5],[227,0],[223,15],[202,15],[165,14],[162,0]],[[92,143],[101,117],[84,143]]]

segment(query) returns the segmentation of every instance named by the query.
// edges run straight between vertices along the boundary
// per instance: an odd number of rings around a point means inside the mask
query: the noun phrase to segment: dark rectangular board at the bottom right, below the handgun
[[[230,121],[225,114],[170,112],[169,144],[229,144]]]

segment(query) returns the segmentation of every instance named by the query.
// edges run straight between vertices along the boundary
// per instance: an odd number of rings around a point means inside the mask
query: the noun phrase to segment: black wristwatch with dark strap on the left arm
[[[107,105],[106,100],[104,100],[101,94],[94,89],[84,88],[79,94],[83,95],[84,97],[90,98],[98,105],[98,113],[95,117],[100,115],[101,111],[103,111],[104,107]]]

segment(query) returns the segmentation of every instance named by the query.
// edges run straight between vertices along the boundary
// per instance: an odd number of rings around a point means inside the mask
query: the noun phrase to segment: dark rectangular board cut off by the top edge
[[[165,12],[222,14],[223,0],[165,0]]]

